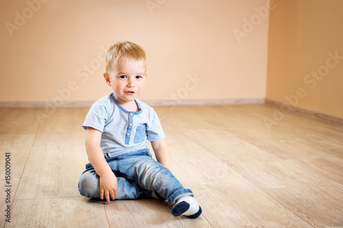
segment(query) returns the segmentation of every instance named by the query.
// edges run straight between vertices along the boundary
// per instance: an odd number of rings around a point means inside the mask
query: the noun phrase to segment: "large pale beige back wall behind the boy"
[[[269,15],[254,10],[265,0],[37,2],[0,2],[0,102],[95,101],[111,92],[103,50],[119,40],[147,51],[143,100],[265,97]]]

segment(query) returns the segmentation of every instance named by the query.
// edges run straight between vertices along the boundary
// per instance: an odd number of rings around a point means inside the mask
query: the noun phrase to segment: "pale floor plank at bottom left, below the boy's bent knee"
[[[109,227],[104,205],[84,197],[16,200],[12,210],[5,227]]]

